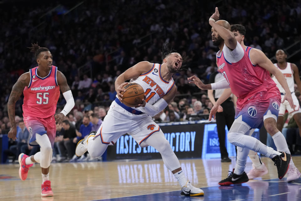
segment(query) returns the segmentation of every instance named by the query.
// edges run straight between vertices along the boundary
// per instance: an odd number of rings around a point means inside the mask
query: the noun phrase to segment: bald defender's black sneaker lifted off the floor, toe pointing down
[[[286,174],[286,172],[288,171],[291,155],[283,151],[280,151],[280,153],[282,154],[273,157],[272,160],[274,161],[274,166],[277,167],[278,178],[282,179]]]

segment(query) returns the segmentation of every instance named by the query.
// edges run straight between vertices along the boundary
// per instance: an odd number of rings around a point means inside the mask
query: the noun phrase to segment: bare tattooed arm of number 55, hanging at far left
[[[7,103],[8,118],[11,124],[10,130],[8,132],[8,137],[11,139],[17,139],[17,125],[15,122],[15,107],[16,102],[20,98],[21,94],[24,91],[24,88],[29,85],[30,74],[24,73],[19,77],[17,82],[13,85],[13,89],[9,95]]]

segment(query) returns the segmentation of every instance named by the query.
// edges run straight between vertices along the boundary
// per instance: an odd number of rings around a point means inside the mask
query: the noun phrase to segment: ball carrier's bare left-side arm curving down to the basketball
[[[153,63],[143,61],[139,62],[136,65],[132,66],[131,68],[127,69],[123,73],[121,73],[115,80],[115,90],[117,92],[118,99],[122,102],[122,94],[121,91],[125,91],[122,87],[127,84],[125,83],[126,80],[136,78],[143,73],[147,73],[153,67]]]

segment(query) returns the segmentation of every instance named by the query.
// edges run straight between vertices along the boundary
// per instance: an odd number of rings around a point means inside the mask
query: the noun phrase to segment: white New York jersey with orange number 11
[[[161,78],[160,70],[161,64],[154,63],[153,68],[151,68],[149,72],[130,80],[130,82],[135,82],[142,86],[145,91],[145,101],[151,105],[166,95],[172,87],[175,87],[173,78],[170,80],[163,80]],[[135,108],[135,110],[143,112],[141,107]]]

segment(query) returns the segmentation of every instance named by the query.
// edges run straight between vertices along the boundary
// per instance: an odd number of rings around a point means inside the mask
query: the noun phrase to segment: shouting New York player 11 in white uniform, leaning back
[[[77,144],[75,153],[81,156],[88,151],[92,158],[100,157],[109,144],[114,144],[121,135],[128,133],[141,147],[150,145],[160,152],[165,166],[182,187],[181,195],[204,195],[203,190],[193,187],[187,180],[164,133],[151,118],[175,97],[177,87],[172,75],[182,66],[182,56],[169,50],[167,44],[164,44],[161,54],[162,64],[139,62],[118,76],[115,81],[117,97],[102,125],[97,132],[92,131]],[[122,103],[121,92],[125,91],[123,86],[128,84],[126,80],[140,84],[145,91],[143,102],[135,108]]]

